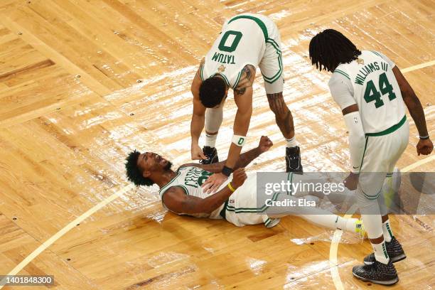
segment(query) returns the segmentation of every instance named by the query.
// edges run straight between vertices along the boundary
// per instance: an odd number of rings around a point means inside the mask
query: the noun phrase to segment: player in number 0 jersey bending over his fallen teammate
[[[225,166],[208,178],[204,187],[214,191],[235,169],[252,115],[252,84],[257,67],[264,78],[269,107],[275,114],[276,124],[286,139],[286,172],[302,172],[299,147],[294,137],[291,112],[282,95],[284,87],[281,40],[276,24],[260,14],[240,14],[230,18],[222,27],[200,63],[193,78],[193,114],[190,123],[192,159],[200,163],[218,162],[216,138],[222,124],[222,109],[228,90],[234,92],[235,115],[232,143]],[[205,147],[198,139],[205,123]]]

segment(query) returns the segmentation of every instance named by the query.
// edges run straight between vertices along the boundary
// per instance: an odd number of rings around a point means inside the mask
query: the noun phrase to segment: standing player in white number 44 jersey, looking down
[[[353,267],[353,275],[363,281],[394,284],[399,278],[392,263],[406,256],[392,234],[384,181],[408,145],[405,105],[420,135],[417,154],[431,154],[434,149],[423,108],[399,68],[382,53],[360,51],[333,29],[314,36],[309,50],[316,68],[333,73],[328,85],[349,131],[353,169],[346,184],[354,190],[359,176],[358,204],[374,249],[365,257],[365,265]]]

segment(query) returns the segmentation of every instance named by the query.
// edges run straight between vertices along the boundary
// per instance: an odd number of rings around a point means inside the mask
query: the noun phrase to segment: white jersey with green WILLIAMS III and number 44
[[[379,133],[399,124],[405,107],[396,77],[379,53],[363,50],[357,60],[334,70],[350,79],[365,133]]]

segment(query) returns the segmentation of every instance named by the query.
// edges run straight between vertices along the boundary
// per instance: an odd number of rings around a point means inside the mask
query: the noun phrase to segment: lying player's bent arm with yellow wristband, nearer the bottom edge
[[[246,178],[245,169],[237,169],[231,181],[231,188],[237,189],[242,186]],[[174,186],[163,194],[162,200],[166,208],[174,213],[186,213],[190,215],[195,213],[213,213],[214,210],[225,203],[225,200],[230,197],[232,192],[230,186],[225,186],[225,188],[208,196],[208,198],[197,198],[192,195],[187,195],[182,188]]]

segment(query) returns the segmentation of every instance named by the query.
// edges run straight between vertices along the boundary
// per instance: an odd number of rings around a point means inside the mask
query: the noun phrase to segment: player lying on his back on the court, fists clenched
[[[201,185],[210,175],[220,172],[225,161],[213,164],[186,163],[177,171],[173,171],[172,163],[159,154],[141,154],[135,150],[127,157],[127,178],[136,186],[151,186],[156,183],[160,188],[163,208],[178,215],[223,218],[238,227],[260,223],[264,223],[266,227],[273,227],[279,222],[279,217],[257,213],[257,175],[247,176],[245,173],[245,166],[268,151],[272,145],[267,136],[262,136],[257,148],[240,154],[235,171],[228,178],[230,182],[222,184],[213,194],[205,193]],[[301,178],[300,175],[295,175],[294,180],[299,177]],[[286,195],[286,199],[288,198],[296,200],[296,197]],[[292,210],[292,207],[288,208]],[[297,213],[289,213],[297,214],[316,225],[349,232],[363,232],[362,224],[356,218],[341,218],[321,208],[310,207],[304,211],[301,207],[294,207],[293,210],[297,210]]]

